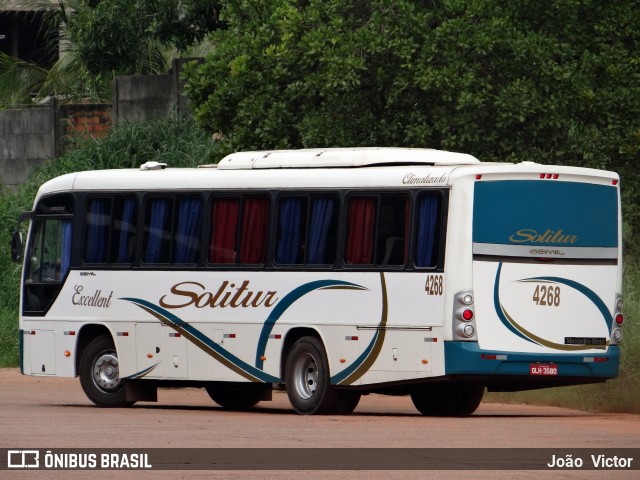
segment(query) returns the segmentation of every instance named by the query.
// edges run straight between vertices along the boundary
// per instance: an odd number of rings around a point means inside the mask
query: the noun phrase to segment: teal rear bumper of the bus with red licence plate
[[[516,353],[482,350],[476,342],[445,342],[445,374],[464,376],[529,376],[552,381],[566,377],[609,379],[618,376],[620,347],[602,353]]]

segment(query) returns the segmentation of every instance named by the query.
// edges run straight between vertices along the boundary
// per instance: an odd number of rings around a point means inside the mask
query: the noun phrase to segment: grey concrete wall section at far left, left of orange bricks
[[[57,151],[53,105],[0,110],[0,183],[15,189],[29,171]]]

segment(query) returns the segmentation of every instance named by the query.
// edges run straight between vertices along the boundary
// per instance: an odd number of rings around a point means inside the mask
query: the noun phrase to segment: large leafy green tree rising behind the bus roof
[[[187,90],[220,155],[426,146],[608,168],[638,228],[638,3],[231,2]]]

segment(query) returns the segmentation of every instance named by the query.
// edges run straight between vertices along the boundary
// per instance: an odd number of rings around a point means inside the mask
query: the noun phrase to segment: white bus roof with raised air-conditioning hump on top
[[[487,163],[471,155],[414,148],[335,148],[238,152],[217,165],[166,168],[147,162],[139,169],[69,173],[49,180],[38,197],[62,191],[251,190],[446,187],[465,178],[611,182],[613,172],[533,162]],[[316,169],[313,173],[309,169]],[[347,171],[351,170],[347,174]],[[555,178],[558,178],[555,175]],[[36,199],[37,201],[37,199]]]

